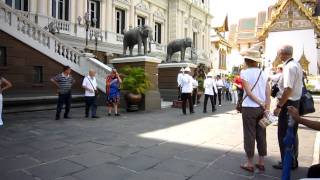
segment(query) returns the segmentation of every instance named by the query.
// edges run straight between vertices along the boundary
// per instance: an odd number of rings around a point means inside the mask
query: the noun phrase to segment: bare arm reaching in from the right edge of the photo
[[[311,121],[311,120],[302,118],[299,114],[299,111],[295,107],[289,106],[288,112],[297,123],[303,124],[311,129],[320,131],[320,122]]]

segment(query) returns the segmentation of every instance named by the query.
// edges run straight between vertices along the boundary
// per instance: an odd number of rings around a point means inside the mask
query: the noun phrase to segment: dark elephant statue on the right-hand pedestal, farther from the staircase
[[[191,38],[183,38],[183,39],[176,39],[171,41],[167,46],[167,58],[166,62],[171,62],[172,55],[176,52],[181,52],[181,61],[184,62],[184,57],[186,54],[186,49],[188,47],[192,47],[192,39]],[[191,55],[192,56],[192,55]]]

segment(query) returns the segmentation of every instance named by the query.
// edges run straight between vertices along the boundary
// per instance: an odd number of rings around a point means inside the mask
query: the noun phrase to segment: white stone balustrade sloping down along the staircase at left
[[[92,54],[82,53],[44,30],[19,11],[0,1],[0,30],[45,54],[62,65],[68,65],[84,76],[89,69],[97,71],[98,88],[105,92],[105,77],[111,68]]]

